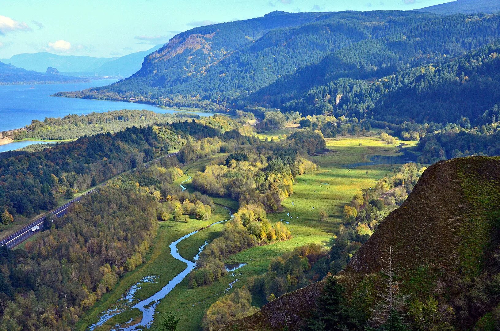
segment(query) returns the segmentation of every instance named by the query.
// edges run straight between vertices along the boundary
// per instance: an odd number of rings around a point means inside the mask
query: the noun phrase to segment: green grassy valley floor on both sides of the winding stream
[[[289,130],[293,128],[287,128]],[[279,131],[267,132],[267,136],[274,136]],[[285,133],[288,134],[288,133]],[[415,142],[405,141],[408,145]],[[232,286],[240,287],[247,283],[252,275],[261,274],[266,269],[271,259],[292,250],[294,247],[308,242],[321,242],[325,245],[331,243],[334,233],[340,224],[343,205],[348,203],[352,196],[362,188],[373,186],[377,180],[391,170],[390,165],[372,165],[348,169],[345,164],[368,161],[371,155],[397,155],[398,145],[389,145],[379,139],[378,136],[346,136],[326,139],[326,149],[314,156],[314,161],[320,169],[312,173],[298,176],[294,183],[294,193],[282,202],[283,211],[268,214],[272,222],[289,222],[289,229],[293,238],[266,246],[257,246],[229,256],[226,262],[247,263],[233,273],[222,277],[210,286],[198,286],[189,288],[188,277],[179,283],[156,307],[155,326],[162,320],[160,316],[169,311],[175,311],[181,320],[179,330],[199,330],[201,319],[206,309],[218,297],[230,291]],[[189,175],[201,171],[204,165],[212,159],[223,155],[215,155],[210,159],[195,162],[184,168],[186,173],[178,178],[178,183],[189,178]],[[190,180],[182,183],[189,191],[192,191]],[[222,205],[228,206],[234,211],[237,208],[235,201],[214,198],[217,203],[215,214],[210,221],[226,219],[228,212]],[[325,210],[329,219],[324,222],[318,220],[320,210]],[[287,215],[289,213],[289,216]],[[291,217],[290,217],[291,216]],[[77,329],[84,329],[88,321],[95,321],[97,314],[112,306],[122,293],[139,279],[147,275],[159,275],[157,282],[145,283],[136,292],[136,298],[142,299],[152,294],[169,279],[178,273],[185,265],[173,259],[169,254],[168,245],[178,237],[193,229],[204,226],[201,221],[191,220],[188,223],[164,222],[155,243],[147,255],[147,261],[136,270],[129,272],[123,277],[116,288],[106,294],[78,323]],[[178,244],[179,253],[184,258],[191,259],[197,252],[198,247],[205,240],[210,241],[220,234],[222,224],[205,228],[198,233],[182,240]],[[235,281],[237,279],[237,281]],[[235,282],[234,282],[235,281]],[[254,298],[253,304],[265,303],[261,298]],[[121,314],[120,314],[121,315]],[[125,320],[123,316],[116,316],[117,321]],[[130,312],[124,312],[124,316]],[[105,329],[109,329],[107,326]]]

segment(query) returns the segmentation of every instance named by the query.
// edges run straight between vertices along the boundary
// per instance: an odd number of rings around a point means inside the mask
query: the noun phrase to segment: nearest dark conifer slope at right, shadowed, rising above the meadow
[[[473,124],[482,124],[484,111],[500,102],[499,52],[500,44],[495,42],[457,57],[403,67],[378,79],[334,79],[311,88],[283,108],[392,123],[446,124],[465,116]]]

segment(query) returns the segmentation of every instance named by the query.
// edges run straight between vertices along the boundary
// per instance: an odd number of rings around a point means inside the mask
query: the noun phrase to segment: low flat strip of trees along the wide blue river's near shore
[[[38,139],[75,139],[84,135],[118,132],[127,127],[142,127],[152,124],[164,124],[185,119],[199,118],[190,113],[161,114],[149,110],[115,110],[107,112],[91,112],[85,115],[66,115],[64,117],[47,117],[43,121],[33,119],[25,130],[12,132],[8,136],[13,140],[24,138]]]

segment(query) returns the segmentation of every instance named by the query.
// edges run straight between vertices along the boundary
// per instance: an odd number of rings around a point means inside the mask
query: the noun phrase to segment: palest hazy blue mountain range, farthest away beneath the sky
[[[45,72],[47,67],[55,67],[60,72],[79,76],[120,76],[127,77],[140,68],[144,57],[162,45],[148,50],[130,53],[120,57],[92,57],[76,55],[56,55],[48,52],[22,53],[7,59],[0,59],[26,70]]]

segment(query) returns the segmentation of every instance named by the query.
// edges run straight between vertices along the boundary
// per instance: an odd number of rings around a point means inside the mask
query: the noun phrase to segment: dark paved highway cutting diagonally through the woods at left
[[[151,162],[157,161],[163,157],[170,157],[170,156],[176,155],[177,153],[178,152],[169,153],[169,154],[157,157],[157,158],[155,158],[147,163],[144,163],[144,166],[148,167]],[[130,170],[128,170],[128,171],[130,171]],[[125,172],[128,172],[128,171],[125,171]],[[125,173],[125,172],[123,172],[123,173]],[[94,187],[91,190],[89,190],[88,192],[86,192],[84,195],[95,192],[97,190],[97,187],[104,186],[104,185],[106,185],[106,183],[107,183],[107,181],[100,184],[100,185],[97,185],[96,187]],[[69,206],[71,204],[73,204],[74,202],[78,202],[79,200],[81,200],[82,197],[83,197],[83,195],[78,196],[78,197],[64,203],[60,207],[57,207],[56,209],[51,210],[50,212],[52,212],[56,217],[60,217],[62,215],[65,215]],[[33,220],[32,222],[30,222],[29,224],[27,224],[26,226],[24,226],[22,229],[18,230],[17,232],[12,233],[8,237],[2,238],[0,240],[0,246],[6,245],[9,248],[15,247],[19,243],[23,242],[24,240],[26,240],[27,238],[29,238],[30,236],[35,234],[36,232],[39,232],[42,229],[42,225],[43,225],[44,220],[45,220],[45,216],[38,217],[35,220]],[[39,226],[39,228],[33,231],[32,228],[35,226]]]

